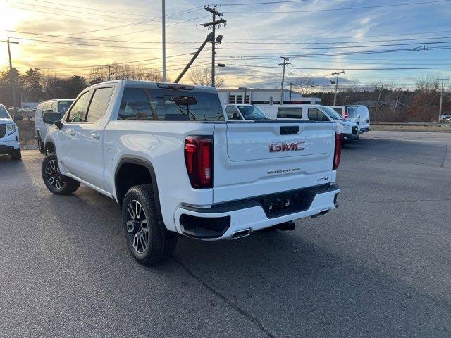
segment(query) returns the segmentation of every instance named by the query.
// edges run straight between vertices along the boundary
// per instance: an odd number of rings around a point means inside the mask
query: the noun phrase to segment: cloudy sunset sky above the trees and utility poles
[[[209,32],[199,26],[211,20],[205,4],[166,1],[172,79]],[[451,76],[451,69],[438,69],[451,68],[451,1],[224,0],[217,9],[227,20],[217,30],[223,35],[217,61],[226,63],[218,73],[226,87],[280,86],[282,55],[290,58],[288,82],[307,74],[326,85],[330,73],[345,70],[341,84],[395,82],[409,88],[419,75]],[[20,42],[11,45],[20,71],[87,76],[92,66],[114,62],[161,69],[161,0],[0,0],[0,39],[8,37]],[[424,45],[426,52],[412,50]],[[195,67],[209,66],[210,49],[207,45]],[[1,43],[0,69],[7,66],[7,46]]]

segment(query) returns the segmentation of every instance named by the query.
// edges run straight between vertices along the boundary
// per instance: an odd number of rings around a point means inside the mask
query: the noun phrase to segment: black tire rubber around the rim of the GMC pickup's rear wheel
[[[130,225],[128,225],[128,222],[132,222],[128,207],[129,205],[136,206],[136,201],[142,207],[147,220],[147,249],[143,252],[138,252],[133,246],[132,231],[129,231]],[[175,251],[178,236],[166,230],[166,227],[159,223],[152,184],[136,185],[128,190],[122,204],[122,223],[128,249],[138,263],[155,265],[166,261]],[[137,224],[131,226],[137,227]]]

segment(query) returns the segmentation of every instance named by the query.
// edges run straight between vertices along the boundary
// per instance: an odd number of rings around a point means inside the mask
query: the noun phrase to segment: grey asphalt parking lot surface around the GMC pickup
[[[340,208],[292,232],[179,240],[145,268],[118,206],[0,158],[0,337],[450,337],[451,133],[343,149]]]

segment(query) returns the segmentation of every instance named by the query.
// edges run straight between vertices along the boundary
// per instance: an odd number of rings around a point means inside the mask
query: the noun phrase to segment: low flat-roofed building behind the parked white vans
[[[280,104],[280,89],[218,89],[223,104]],[[301,93],[283,89],[283,104],[321,104],[316,97],[303,97]]]

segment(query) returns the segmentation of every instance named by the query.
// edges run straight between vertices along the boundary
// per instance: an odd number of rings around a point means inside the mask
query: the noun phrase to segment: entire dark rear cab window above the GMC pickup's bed
[[[125,87],[118,120],[224,121],[218,94]]]

